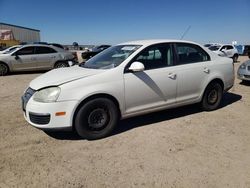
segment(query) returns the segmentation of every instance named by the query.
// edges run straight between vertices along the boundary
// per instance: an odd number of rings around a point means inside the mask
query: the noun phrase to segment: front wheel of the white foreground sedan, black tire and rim
[[[110,135],[118,120],[118,108],[114,102],[107,98],[96,98],[76,112],[74,128],[82,138],[96,140]]]

